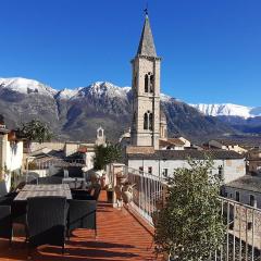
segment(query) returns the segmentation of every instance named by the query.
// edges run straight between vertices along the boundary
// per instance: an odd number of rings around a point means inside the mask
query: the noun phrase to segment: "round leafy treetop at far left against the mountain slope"
[[[42,144],[52,138],[52,133],[48,125],[38,120],[32,120],[30,122],[24,123],[21,132],[29,142],[36,141]]]

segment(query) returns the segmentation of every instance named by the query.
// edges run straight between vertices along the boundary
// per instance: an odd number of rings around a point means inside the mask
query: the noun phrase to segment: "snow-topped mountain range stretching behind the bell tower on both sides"
[[[167,119],[169,136],[178,134],[202,140],[238,132],[234,122],[224,119],[232,116],[232,110],[229,115],[225,115],[225,109],[221,114],[217,105],[201,110],[207,107],[189,105],[166,95],[161,95],[161,107]],[[248,115],[259,115],[260,108],[249,109],[248,113],[236,117],[258,119]],[[99,126],[105,129],[108,139],[117,140],[130,126],[132,89],[97,82],[87,87],[55,90],[34,79],[0,78],[0,114],[10,128],[39,119],[49,124],[60,140],[94,140]]]

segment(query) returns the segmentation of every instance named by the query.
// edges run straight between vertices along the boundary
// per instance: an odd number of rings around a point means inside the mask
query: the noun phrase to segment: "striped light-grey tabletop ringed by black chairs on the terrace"
[[[28,190],[21,190],[18,195],[14,198],[14,201],[26,201],[27,198],[34,197],[65,197],[66,199],[72,199],[71,190],[69,186],[58,185],[28,185],[25,187]],[[64,184],[67,185],[67,184]]]

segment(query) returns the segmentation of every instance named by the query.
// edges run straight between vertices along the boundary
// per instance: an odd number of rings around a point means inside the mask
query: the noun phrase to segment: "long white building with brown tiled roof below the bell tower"
[[[212,174],[220,175],[229,183],[246,175],[245,158],[234,151],[213,150],[208,152],[213,159]],[[154,153],[129,153],[127,165],[157,176],[172,176],[178,167],[189,167],[188,158],[204,160],[206,152],[199,150],[159,150]]]

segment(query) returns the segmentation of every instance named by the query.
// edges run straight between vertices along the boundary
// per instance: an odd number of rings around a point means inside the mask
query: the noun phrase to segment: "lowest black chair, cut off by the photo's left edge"
[[[12,219],[11,219],[11,207],[0,206],[0,237],[9,239],[11,247],[12,243]]]

